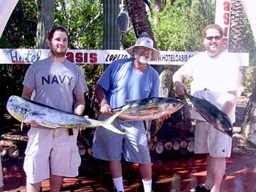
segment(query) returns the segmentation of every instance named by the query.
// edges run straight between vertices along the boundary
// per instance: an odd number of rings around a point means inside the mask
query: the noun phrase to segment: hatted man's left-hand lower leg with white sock
[[[124,191],[121,161],[110,161],[109,166],[114,181],[114,186],[117,188],[117,191]]]

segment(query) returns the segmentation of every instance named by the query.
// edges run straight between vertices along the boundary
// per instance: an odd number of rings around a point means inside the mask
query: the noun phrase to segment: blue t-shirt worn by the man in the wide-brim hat
[[[144,73],[138,73],[134,70],[133,58],[115,60],[98,84],[104,88],[112,108],[127,104],[127,100],[159,97],[159,74],[150,65]]]

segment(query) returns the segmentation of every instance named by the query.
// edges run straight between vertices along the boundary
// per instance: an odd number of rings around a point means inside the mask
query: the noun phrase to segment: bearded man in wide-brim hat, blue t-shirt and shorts
[[[159,50],[154,48],[151,38],[138,38],[137,43],[128,48],[127,52],[133,58],[115,60],[95,87],[95,95],[100,104],[100,120],[112,114],[112,108],[125,105],[127,100],[159,97],[159,74],[148,65],[150,60],[159,58]],[[164,114],[162,119],[168,117],[168,114]],[[93,156],[109,161],[117,191],[124,191],[122,154],[125,161],[139,164],[144,191],[151,191],[151,159],[143,122],[127,122],[117,118],[113,125],[126,134],[96,129],[92,145]]]

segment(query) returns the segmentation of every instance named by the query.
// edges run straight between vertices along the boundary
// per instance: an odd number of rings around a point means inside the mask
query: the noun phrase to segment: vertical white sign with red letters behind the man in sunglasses
[[[223,48],[228,50],[231,0],[216,0],[215,24],[223,28]]]

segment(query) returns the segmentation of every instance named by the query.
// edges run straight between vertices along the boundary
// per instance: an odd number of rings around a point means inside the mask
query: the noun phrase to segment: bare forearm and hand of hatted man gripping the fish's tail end
[[[95,96],[100,104],[100,112],[104,114],[112,114],[112,108],[107,102],[105,90],[98,84],[95,87]]]

